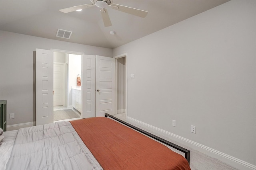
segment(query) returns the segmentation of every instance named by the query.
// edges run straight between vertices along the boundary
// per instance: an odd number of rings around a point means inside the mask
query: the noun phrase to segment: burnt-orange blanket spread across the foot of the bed
[[[182,155],[112,119],[70,123],[104,170],[190,170]]]

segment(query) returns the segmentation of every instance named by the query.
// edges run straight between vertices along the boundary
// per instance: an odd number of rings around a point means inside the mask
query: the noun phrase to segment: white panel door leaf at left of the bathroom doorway
[[[53,122],[53,52],[36,49],[36,125]]]

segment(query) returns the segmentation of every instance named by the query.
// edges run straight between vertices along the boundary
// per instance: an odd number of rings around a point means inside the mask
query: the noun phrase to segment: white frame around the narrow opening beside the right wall
[[[128,53],[123,53],[117,56],[114,56],[113,58],[115,59],[115,115],[117,114],[117,84],[118,84],[118,62],[117,59],[126,57],[126,117],[128,117]]]

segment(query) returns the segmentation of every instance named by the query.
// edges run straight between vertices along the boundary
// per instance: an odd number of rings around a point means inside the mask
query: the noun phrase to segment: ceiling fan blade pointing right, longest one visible
[[[139,16],[139,17],[142,17],[142,18],[145,18],[148,14],[147,11],[139,10],[139,9],[136,9],[136,8],[131,8],[131,7],[128,7],[128,6],[122,6],[122,5],[119,5],[119,4],[111,4],[109,6],[112,7],[114,10],[118,10],[118,11],[121,11],[121,12],[126,12],[128,14],[132,14],[134,16]]]

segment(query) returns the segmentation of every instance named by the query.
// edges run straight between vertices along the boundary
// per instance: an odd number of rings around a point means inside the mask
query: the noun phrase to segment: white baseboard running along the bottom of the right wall
[[[160,129],[158,127],[154,127],[154,126],[144,123],[142,121],[138,121],[131,117],[127,117],[127,120],[134,124],[140,125],[141,127],[144,127],[145,129],[148,129],[154,133],[157,133],[164,137],[168,137],[169,139],[177,141],[178,143],[186,145],[192,149],[198,150],[208,156],[216,158],[216,159],[218,159],[226,164],[229,164],[230,166],[238,168],[240,170],[256,170],[256,166],[253,164],[250,164],[248,162],[245,162],[243,160],[240,160],[240,159],[230,156],[228,154],[219,152],[218,150],[206,147],[204,145],[201,145],[200,143],[196,143],[196,142],[186,139],[184,137],[180,137],[178,135],[175,135],[173,133],[170,133],[170,132]]]

